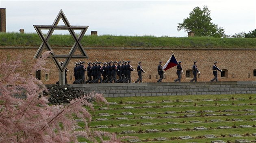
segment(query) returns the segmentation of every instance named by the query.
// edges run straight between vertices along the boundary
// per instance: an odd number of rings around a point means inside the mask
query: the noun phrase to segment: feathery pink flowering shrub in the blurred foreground
[[[50,53],[38,59],[30,73],[43,68],[45,59]],[[95,101],[105,102],[100,94],[84,95],[80,99],[70,101],[69,105],[48,105],[48,99],[43,96],[46,87],[35,77],[22,77],[15,72],[21,61],[11,61],[9,57],[0,64],[0,143],[70,143],[78,142],[76,135],[97,142],[99,137],[102,143],[119,143],[115,134],[89,130],[88,123],[91,114],[83,107],[86,105],[93,110],[92,103],[87,97]],[[21,90],[22,89],[22,90]],[[14,95],[25,94],[26,99],[15,98]],[[85,131],[75,131],[77,123],[74,120],[81,118],[85,122]],[[110,140],[103,140],[107,136]]]

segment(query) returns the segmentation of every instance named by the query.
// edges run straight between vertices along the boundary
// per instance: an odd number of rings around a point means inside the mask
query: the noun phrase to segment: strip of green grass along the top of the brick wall
[[[51,46],[73,46],[70,35],[52,35]],[[169,47],[169,48],[255,48],[255,38],[213,38],[213,37],[154,37],[154,36],[84,36],[85,47]],[[0,46],[40,46],[36,33],[0,33]]]

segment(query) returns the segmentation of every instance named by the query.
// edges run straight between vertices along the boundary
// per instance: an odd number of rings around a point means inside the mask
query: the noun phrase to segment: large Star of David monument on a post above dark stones
[[[63,20],[65,25],[59,26],[58,23],[60,20]],[[64,15],[63,11],[60,10],[59,14],[57,15],[56,19],[54,20],[52,25],[33,25],[35,27],[35,30],[37,31],[37,34],[42,40],[42,44],[40,45],[39,49],[37,50],[37,53],[34,56],[35,58],[38,58],[43,49],[46,48],[48,51],[52,51],[51,57],[52,60],[54,61],[56,67],[59,70],[59,84],[60,85],[65,85],[65,69],[69,63],[69,61],[72,58],[88,58],[87,54],[85,53],[85,50],[80,43],[82,37],[85,35],[86,30],[88,29],[89,26],[72,26],[67,20],[67,17]],[[43,32],[41,31],[42,29],[49,29],[48,33],[46,36],[43,35]],[[52,36],[52,33],[54,30],[68,30],[72,38],[75,40],[74,45],[72,46],[70,52],[68,55],[56,55],[54,54],[54,50],[52,50],[50,44],[48,43],[50,37]],[[76,33],[74,30],[81,30],[80,34],[78,37],[76,36]],[[80,50],[81,55],[74,55],[76,49]],[[66,60],[64,61],[63,65],[60,64],[58,58],[65,58]]]

